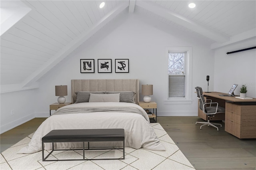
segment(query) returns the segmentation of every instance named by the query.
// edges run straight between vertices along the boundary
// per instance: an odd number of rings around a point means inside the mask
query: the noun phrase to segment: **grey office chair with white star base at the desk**
[[[197,93],[197,98],[199,99],[199,108],[203,111],[203,113],[205,113],[208,116],[208,120],[207,122],[196,122],[197,123],[201,123],[204,124],[200,127],[200,129],[202,129],[203,126],[212,126],[217,128],[217,130],[219,131],[219,128],[216,127],[215,125],[220,125],[220,127],[222,127],[222,125],[220,123],[210,123],[210,117],[214,117],[214,115],[216,113],[224,113],[225,112],[225,108],[220,107],[219,104],[217,102],[212,102],[212,100],[210,100],[210,103],[206,103],[206,101],[204,100],[204,95],[203,95],[203,91],[201,87],[195,87],[196,89],[196,93]],[[210,105],[210,106],[208,106]],[[212,106],[214,105],[214,106]]]

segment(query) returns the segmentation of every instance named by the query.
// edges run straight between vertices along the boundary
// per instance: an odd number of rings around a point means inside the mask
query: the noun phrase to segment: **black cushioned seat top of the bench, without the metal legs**
[[[52,130],[42,142],[75,142],[75,141],[123,141],[124,129],[58,129]]]

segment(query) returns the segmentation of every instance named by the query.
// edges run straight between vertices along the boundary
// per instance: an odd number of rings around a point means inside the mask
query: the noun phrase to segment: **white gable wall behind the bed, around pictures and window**
[[[49,105],[57,100],[55,85],[68,85],[66,99],[71,101],[70,79],[140,79],[140,86],[145,83],[154,85],[152,100],[158,104],[158,116],[197,115],[194,88],[192,104],[164,104],[168,93],[166,46],[192,46],[192,86],[207,88],[206,75],[213,76],[214,69],[210,44],[186,36],[179,30],[171,30],[157,20],[138,14],[123,14],[40,79],[37,114],[49,114]],[[129,59],[129,73],[115,73],[114,59],[119,58]],[[112,73],[98,73],[96,65],[95,73],[80,73],[80,59],[94,59],[95,64],[97,59],[112,59]],[[213,89],[213,85],[210,88]]]

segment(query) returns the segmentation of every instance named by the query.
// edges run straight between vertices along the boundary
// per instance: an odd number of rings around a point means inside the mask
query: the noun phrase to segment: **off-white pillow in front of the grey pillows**
[[[120,93],[116,94],[92,94],[90,93],[89,102],[119,102]]]

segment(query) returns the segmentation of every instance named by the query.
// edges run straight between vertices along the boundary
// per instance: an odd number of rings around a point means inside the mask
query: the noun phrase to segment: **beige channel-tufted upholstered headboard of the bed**
[[[78,79],[71,80],[71,101],[74,103],[77,91],[134,91],[135,103],[140,97],[138,79]]]

